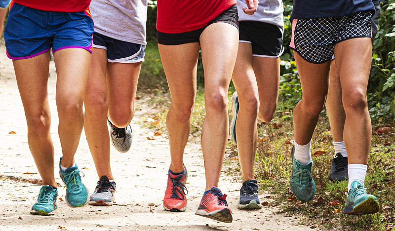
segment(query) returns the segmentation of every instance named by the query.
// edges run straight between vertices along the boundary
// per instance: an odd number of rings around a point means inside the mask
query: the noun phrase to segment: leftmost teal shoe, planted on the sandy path
[[[58,208],[56,205],[56,199],[58,198],[58,190],[49,185],[43,185],[40,189],[39,198],[33,205],[31,214],[50,216],[54,215],[53,210]]]

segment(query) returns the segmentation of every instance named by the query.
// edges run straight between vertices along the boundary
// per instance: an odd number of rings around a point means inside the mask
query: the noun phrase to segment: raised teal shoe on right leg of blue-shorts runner
[[[62,157],[60,157],[62,161]],[[59,162],[60,168],[60,162]],[[59,170],[60,178],[66,184],[66,203],[70,207],[81,207],[89,201],[89,191],[81,181],[81,176],[77,164],[62,171]]]

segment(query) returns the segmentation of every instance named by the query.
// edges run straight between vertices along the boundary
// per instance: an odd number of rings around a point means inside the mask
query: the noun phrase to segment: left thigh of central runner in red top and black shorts
[[[158,44],[158,49],[169,85],[172,105],[192,108],[196,96],[199,43]]]

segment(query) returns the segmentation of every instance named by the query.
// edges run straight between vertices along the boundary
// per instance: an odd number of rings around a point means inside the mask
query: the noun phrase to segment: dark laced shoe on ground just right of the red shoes
[[[243,182],[240,189],[240,199],[237,204],[238,209],[260,209],[262,208],[258,198],[258,184],[256,180]]]

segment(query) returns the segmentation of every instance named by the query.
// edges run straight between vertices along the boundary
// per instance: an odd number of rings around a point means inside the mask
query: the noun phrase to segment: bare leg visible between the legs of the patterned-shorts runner
[[[330,83],[325,106],[329,117],[333,141],[342,142],[346,113],[343,109],[342,87],[340,85],[340,75],[335,60],[332,60],[330,65]]]

